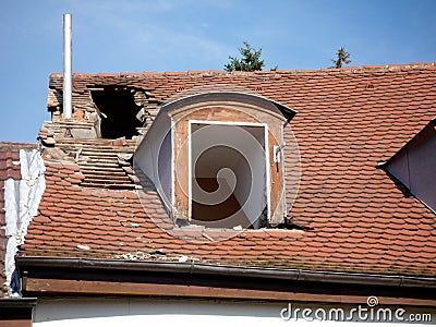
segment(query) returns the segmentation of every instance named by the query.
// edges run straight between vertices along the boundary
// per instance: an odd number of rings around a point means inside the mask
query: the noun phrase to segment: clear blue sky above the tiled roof
[[[73,72],[222,70],[247,40],[266,69],[436,61],[434,0],[1,0],[0,141],[35,142],[51,72],[62,72],[62,14]]]

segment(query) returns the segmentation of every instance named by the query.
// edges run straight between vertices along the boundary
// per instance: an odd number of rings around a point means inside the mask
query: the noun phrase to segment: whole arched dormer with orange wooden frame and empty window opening
[[[209,92],[168,102],[135,153],[177,225],[283,221],[283,125],[294,111],[256,95]]]

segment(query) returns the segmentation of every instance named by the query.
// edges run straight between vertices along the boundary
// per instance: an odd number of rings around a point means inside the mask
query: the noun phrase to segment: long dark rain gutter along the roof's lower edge
[[[184,275],[206,275],[217,277],[243,277],[275,279],[284,281],[341,283],[358,286],[383,286],[395,288],[422,288],[436,289],[435,277],[403,276],[403,275],[377,275],[355,274],[338,271],[313,271],[304,269],[274,269],[255,267],[217,266],[195,263],[162,263],[162,262],[133,262],[114,259],[88,259],[88,258],[55,258],[19,256],[16,264],[21,271],[33,269],[78,269],[93,271],[122,270],[168,272]]]

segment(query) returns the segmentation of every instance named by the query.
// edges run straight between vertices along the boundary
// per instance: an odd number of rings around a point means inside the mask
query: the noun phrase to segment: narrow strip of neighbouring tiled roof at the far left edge
[[[5,277],[4,274],[4,253],[5,253],[5,211],[4,211],[4,181],[8,179],[20,180],[20,149],[36,148],[35,144],[0,142],[0,298],[3,298]]]

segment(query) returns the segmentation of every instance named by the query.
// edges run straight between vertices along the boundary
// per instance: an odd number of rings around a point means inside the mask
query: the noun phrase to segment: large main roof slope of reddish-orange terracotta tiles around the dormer
[[[46,159],[47,189],[23,255],[95,257],[436,276],[435,214],[376,166],[436,116],[436,66],[428,64],[256,73],[187,72],[75,74],[73,104],[88,108],[88,88],[124,85],[150,106],[182,89],[238,85],[299,111],[295,134],[302,179],[289,214],[295,230],[171,235],[157,195],[81,185],[83,165]],[[50,78],[49,107],[60,106],[62,78]],[[60,138],[58,138],[60,140]],[[99,157],[96,170],[104,171]],[[288,171],[288,177],[292,172]],[[137,192],[143,193],[143,203]],[[153,219],[152,219],[153,218]],[[225,234],[222,234],[225,233]],[[229,233],[229,232],[227,232]]]

